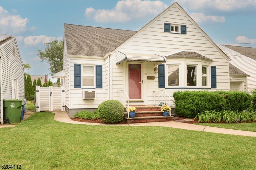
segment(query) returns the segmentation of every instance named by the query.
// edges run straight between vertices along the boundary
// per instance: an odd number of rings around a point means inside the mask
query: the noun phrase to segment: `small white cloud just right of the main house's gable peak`
[[[224,16],[205,16],[201,12],[191,12],[190,17],[196,22],[196,23],[202,23],[202,22],[214,22],[214,23],[222,23],[225,22]]]

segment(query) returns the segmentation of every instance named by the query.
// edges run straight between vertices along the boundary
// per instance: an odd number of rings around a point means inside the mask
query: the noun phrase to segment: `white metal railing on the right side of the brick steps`
[[[170,97],[165,90],[158,90],[153,92],[154,92],[154,105],[159,106],[159,105],[166,104],[167,106],[171,107],[172,97]],[[170,116],[171,116],[171,111],[170,111]]]

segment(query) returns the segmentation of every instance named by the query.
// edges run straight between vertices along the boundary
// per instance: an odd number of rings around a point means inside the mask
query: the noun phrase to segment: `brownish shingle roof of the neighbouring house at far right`
[[[234,50],[237,53],[243,54],[247,57],[250,57],[253,60],[256,60],[256,48],[243,47],[243,46],[228,46],[228,45],[222,45],[222,46],[228,47],[229,49]]]

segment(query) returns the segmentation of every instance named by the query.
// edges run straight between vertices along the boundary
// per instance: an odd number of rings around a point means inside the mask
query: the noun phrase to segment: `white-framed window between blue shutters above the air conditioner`
[[[95,87],[95,66],[86,65],[83,66],[83,79],[82,86],[83,87]]]

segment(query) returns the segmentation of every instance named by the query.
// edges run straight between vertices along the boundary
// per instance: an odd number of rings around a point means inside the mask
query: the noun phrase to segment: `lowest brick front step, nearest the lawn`
[[[146,123],[146,122],[169,122],[172,121],[173,116],[148,116],[148,117],[134,117],[134,118],[128,118],[124,117],[125,121],[128,124],[133,123]]]

